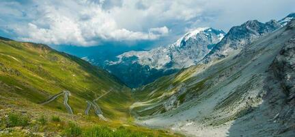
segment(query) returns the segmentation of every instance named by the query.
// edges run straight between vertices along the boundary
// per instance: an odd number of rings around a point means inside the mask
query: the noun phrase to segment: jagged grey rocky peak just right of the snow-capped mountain
[[[273,32],[281,25],[275,21],[260,23],[257,20],[247,21],[240,26],[231,27],[229,32],[217,43],[216,46],[201,60],[202,63],[208,63],[212,60],[225,58],[232,53],[239,52],[245,45],[257,40],[264,34]]]

